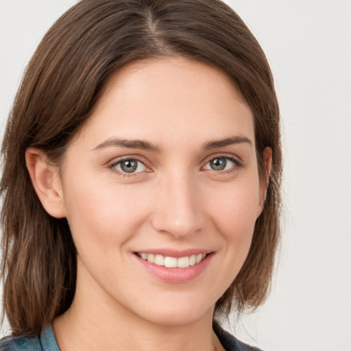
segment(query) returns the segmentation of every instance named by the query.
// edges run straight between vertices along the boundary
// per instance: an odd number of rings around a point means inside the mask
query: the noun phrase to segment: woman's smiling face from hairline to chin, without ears
[[[181,58],[125,67],[60,176],[76,299],[161,324],[212,315],[245,261],[265,192],[252,112],[226,75]]]

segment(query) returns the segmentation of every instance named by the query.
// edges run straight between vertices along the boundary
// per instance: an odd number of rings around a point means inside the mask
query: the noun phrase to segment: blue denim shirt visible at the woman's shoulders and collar
[[[235,339],[223,330],[217,322],[213,330],[226,351],[261,351]],[[51,326],[43,329],[40,337],[5,337],[0,341],[0,351],[60,351]]]

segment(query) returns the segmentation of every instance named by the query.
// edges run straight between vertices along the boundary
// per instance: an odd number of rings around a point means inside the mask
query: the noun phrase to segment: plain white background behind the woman
[[[271,296],[229,328],[264,350],[350,351],[351,1],[226,2],[267,53],[285,152],[285,223]],[[1,129],[40,38],[73,3],[0,0]],[[3,326],[0,335],[7,332]]]

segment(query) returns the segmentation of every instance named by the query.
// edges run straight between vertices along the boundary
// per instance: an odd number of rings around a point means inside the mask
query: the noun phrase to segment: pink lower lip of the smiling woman
[[[134,254],[134,256],[138,262],[143,265],[143,267],[153,276],[156,276],[165,282],[179,283],[189,282],[202,274],[202,272],[209,265],[210,260],[213,257],[213,252],[206,255],[206,257],[200,263],[186,268],[167,268],[165,266],[158,266],[154,263],[143,260],[143,258],[140,258],[136,254]]]

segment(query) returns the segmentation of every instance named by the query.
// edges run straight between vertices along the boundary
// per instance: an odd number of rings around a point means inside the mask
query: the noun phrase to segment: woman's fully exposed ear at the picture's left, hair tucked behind
[[[66,217],[58,167],[49,162],[42,150],[34,147],[25,151],[25,163],[36,195],[47,213],[56,218]]]

